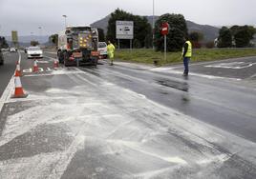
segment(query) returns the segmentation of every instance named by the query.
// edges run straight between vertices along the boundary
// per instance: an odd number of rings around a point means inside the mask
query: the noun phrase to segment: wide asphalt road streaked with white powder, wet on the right
[[[254,65],[197,64],[183,78],[107,61],[54,69],[54,57],[34,73],[21,53],[29,96],[4,102],[0,178],[256,177]]]

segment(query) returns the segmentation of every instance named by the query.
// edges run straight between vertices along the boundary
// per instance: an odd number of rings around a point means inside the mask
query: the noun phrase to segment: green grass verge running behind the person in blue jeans
[[[203,62],[224,60],[229,58],[238,58],[245,56],[256,56],[256,49],[202,49],[193,50],[191,62]],[[163,53],[154,50],[117,50],[116,57],[121,61],[136,62],[143,64],[154,64],[158,61],[158,65],[181,63],[181,52],[168,52],[167,60],[164,60]]]

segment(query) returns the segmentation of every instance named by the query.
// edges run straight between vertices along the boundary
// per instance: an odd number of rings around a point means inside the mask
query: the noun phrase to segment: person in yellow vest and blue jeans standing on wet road
[[[188,75],[188,64],[190,61],[190,58],[192,57],[192,44],[189,41],[188,38],[184,39],[185,43],[183,45],[182,48],[182,58],[183,58],[183,64],[184,64],[184,72],[183,72],[183,76],[187,76]]]

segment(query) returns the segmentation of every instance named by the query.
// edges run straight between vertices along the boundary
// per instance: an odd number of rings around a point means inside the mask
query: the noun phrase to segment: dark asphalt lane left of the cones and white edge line
[[[0,66],[0,96],[6,89],[8,83],[11,80],[11,76],[16,68],[16,62],[18,61],[17,52],[4,52],[5,64]]]

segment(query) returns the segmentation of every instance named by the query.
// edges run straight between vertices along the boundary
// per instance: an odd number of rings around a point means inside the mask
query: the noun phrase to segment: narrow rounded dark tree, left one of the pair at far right
[[[219,31],[218,48],[231,48],[232,47],[232,32],[226,27]]]

